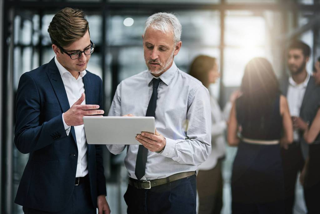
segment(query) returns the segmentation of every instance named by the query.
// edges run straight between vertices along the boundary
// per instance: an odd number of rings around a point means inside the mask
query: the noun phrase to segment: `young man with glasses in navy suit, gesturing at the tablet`
[[[83,116],[101,115],[101,79],[86,71],[94,44],[83,11],[64,8],[48,32],[55,57],[24,73],[14,142],[29,160],[15,203],[25,213],[110,213],[102,148],[88,145]]]

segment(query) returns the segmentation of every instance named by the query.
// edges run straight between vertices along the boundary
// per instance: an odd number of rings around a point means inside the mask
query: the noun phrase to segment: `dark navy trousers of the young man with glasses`
[[[87,176],[88,177],[88,176]],[[35,210],[27,207],[23,207],[25,214],[96,214],[96,208],[92,205],[92,199],[90,194],[90,184],[86,180],[84,183],[76,186],[73,190],[70,201],[63,210],[59,212],[45,212],[42,210]]]

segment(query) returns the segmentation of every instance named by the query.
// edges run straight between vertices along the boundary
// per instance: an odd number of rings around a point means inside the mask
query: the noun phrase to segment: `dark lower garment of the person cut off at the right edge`
[[[309,145],[309,163],[303,185],[304,199],[308,214],[320,213],[320,144]]]

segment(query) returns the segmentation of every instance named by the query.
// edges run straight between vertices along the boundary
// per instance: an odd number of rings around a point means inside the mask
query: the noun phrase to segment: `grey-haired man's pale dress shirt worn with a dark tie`
[[[123,80],[117,87],[108,116],[146,116],[153,78],[144,71]],[[196,171],[211,152],[209,91],[200,81],[178,69],[174,62],[160,79],[155,121],[157,132],[166,139],[166,146],[161,153],[148,150],[146,172],[141,180]],[[126,146],[107,147],[113,154],[119,154]],[[124,159],[128,174],[134,179],[138,148],[139,145],[130,145]]]

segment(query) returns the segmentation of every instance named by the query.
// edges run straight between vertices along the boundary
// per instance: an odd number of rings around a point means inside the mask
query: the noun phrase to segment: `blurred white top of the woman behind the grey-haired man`
[[[222,112],[217,100],[211,95],[210,105],[212,121],[211,154],[208,159],[198,167],[198,170],[213,169],[217,165],[218,159],[222,158],[226,153],[225,130],[227,128],[227,121],[232,104],[231,102],[226,103]]]

